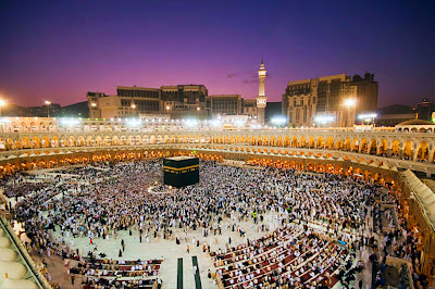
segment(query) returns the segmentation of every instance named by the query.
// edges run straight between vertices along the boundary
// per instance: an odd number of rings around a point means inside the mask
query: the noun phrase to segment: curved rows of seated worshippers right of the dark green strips
[[[340,268],[352,260],[347,247],[291,223],[211,256],[225,288],[331,288],[340,278]]]

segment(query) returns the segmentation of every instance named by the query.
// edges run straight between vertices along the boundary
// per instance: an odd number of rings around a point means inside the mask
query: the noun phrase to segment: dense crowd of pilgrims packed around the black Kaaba
[[[136,230],[147,242],[162,238],[177,243],[191,230],[207,237],[222,226],[241,236],[240,221],[259,224],[268,212],[281,216],[281,226],[322,224],[328,236],[351,243],[364,229],[376,191],[376,186],[346,176],[208,161],[200,164],[200,183],[181,189],[162,185],[160,161],[95,164],[61,173],[74,175],[74,181],[62,177],[25,196],[12,210],[14,218],[24,223],[30,247],[64,244],[53,230],[89,240]]]

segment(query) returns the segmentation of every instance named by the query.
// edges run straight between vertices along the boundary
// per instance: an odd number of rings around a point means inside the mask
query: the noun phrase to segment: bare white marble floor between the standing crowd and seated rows
[[[264,217],[264,224],[271,225],[271,230],[276,228],[275,214],[269,213]],[[116,239],[111,238],[109,240],[96,238],[94,239],[94,243],[97,247],[97,255],[100,252],[107,254],[107,259],[114,260],[149,260],[149,259],[163,259],[163,263],[161,265],[159,272],[159,278],[163,280],[163,288],[176,288],[177,284],[177,260],[178,257],[183,257],[183,280],[184,288],[195,288],[195,277],[194,277],[194,267],[191,256],[196,255],[198,257],[198,267],[201,277],[202,288],[217,288],[217,286],[213,285],[213,280],[208,278],[208,269],[214,272],[214,265],[210,256],[207,253],[202,252],[202,244],[207,242],[211,243],[211,250],[215,251],[219,248],[225,248],[225,244],[228,241],[228,237],[232,239],[232,246],[235,243],[244,243],[246,242],[246,238],[250,240],[258,239],[268,234],[268,231],[258,233],[256,229],[256,225],[253,225],[252,221],[249,222],[240,222],[238,225],[240,228],[246,231],[246,237],[240,237],[238,231],[232,231],[232,228],[225,228],[225,224],[229,222],[229,219],[224,218],[222,224],[222,235],[209,235],[207,238],[203,237],[202,229],[197,229],[196,231],[188,231],[188,241],[185,241],[185,234],[182,229],[175,230],[175,236],[179,236],[181,244],[175,243],[174,240],[164,240],[150,238],[150,242],[146,242],[146,238],[142,236],[142,242],[139,242],[139,234],[137,230],[133,230],[133,235],[129,236],[128,230],[119,231]],[[60,239],[64,239],[66,244],[71,244],[71,240],[73,238],[62,237],[60,230],[55,231],[55,237]],[[183,237],[182,237],[183,236]],[[192,238],[195,237],[195,242],[197,240],[200,241],[200,246],[197,247],[192,244]],[[121,240],[125,242],[125,251],[123,252],[123,256],[119,257],[119,252],[121,247]],[[217,244],[215,243],[215,239],[217,239]],[[190,248],[190,253],[186,252],[187,244]],[[94,250],[94,247],[89,246],[89,239],[87,237],[77,237],[74,238],[74,246],[70,246],[71,249],[79,249],[82,255],[86,255],[89,250]]]

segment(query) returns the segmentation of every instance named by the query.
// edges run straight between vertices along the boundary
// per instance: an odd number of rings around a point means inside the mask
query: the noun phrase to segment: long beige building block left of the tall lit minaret
[[[160,88],[116,87],[116,95],[88,92],[89,118],[159,116],[169,118],[248,115],[256,120],[257,101],[240,95],[208,96],[202,85],[162,86]]]

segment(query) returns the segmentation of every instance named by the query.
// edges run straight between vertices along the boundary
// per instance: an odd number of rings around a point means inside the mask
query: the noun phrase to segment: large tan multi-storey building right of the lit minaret
[[[359,113],[375,112],[377,81],[373,74],[353,79],[346,74],[288,81],[283,95],[283,115],[290,126],[313,126],[315,120],[332,126],[352,126]],[[355,99],[345,105],[346,99]]]

